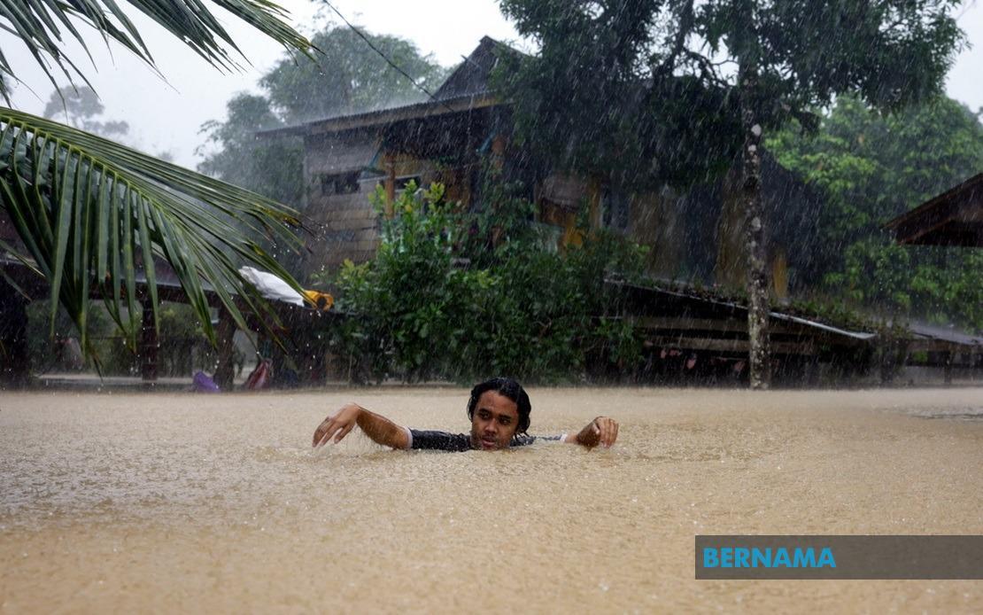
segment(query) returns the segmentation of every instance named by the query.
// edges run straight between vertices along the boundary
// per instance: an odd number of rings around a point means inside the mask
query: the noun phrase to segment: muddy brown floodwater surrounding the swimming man
[[[698,533],[983,533],[983,389],[530,395],[531,433],[618,443],[310,447],[349,400],[466,431],[463,389],[0,394],[0,610],[983,610],[983,582],[693,578]]]

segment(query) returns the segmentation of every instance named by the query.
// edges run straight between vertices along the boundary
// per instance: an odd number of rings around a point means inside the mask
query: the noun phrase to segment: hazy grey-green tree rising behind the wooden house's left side
[[[446,71],[412,42],[366,35],[428,90],[443,80]],[[228,102],[224,122],[202,125],[206,141],[198,150],[204,155],[199,170],[297,207],[304,190],[302,144],[260,139],[257,131],[426,97],[350,29],[329,27],[312,42],[320,53],[280,61],[260,79],[262,95],[238,94]]]

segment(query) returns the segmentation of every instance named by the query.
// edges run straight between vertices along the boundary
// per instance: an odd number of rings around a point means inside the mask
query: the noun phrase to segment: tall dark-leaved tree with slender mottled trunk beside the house
[[[957,0],[501,0],[540,43],[506,86],[561,163],[685,184],[740,160],[751,386],[770,381],[761,144],[855,92],[895,110],[941,90]],[[740,156],[737,158],[736,156]]]

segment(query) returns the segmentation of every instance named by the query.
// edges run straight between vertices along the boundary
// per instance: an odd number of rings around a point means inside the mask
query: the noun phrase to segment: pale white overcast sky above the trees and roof
[[[290,10],[291,21],[307,34],[325,23],[318,11],[333,18],[317,2],[281,0],[279,4]],[[485,34],[504,40],[517,37],[493,0],[337,0],[334,5],[349,21],[374,33],[408,38],[448,66],[470,53]],[[972,48],[958,56],[947,90],[975,110],[983,107],[983,6],[968,1],[959,12],[959,26],[968,34]],[[282,57],[283,49],[237,20],[224,19],[252,66],[223,75],[138,12],[130,15],[166,81],[127,51],[118,47],[107,51],[97,37],[90,51],[98,72],[87,64],[81,49],[68,45],[66,50],[100,95],[106,107],[104,117],[130,123],[131,145],[151,154],[169,152],[177,162],[194,167],[199,161],[195,148],[203,141],[202,123],[224,119],[225,103],[236,92],[259,92],[260,76]],[[0,46],[27,84],[15,90],[14,105],[39,114],[53,87],[18,39],[0,31]]]

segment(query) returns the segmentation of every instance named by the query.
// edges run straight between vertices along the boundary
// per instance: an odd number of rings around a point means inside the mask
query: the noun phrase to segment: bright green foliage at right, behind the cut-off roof
[[[881,115],[841,97],[814,137],[787,130],[768,148],[826,196],[820,244],[828,250],[816,274],[828,292],[883,313],[983,329],[983,254],[898,246],[883,229],[983,171],[976,114],[940,98]]]

